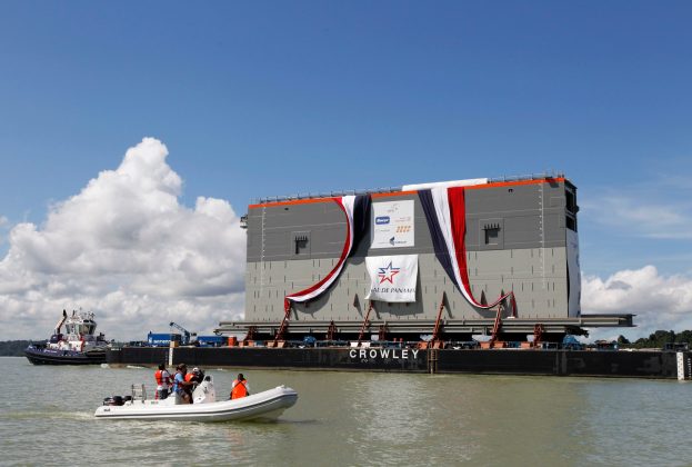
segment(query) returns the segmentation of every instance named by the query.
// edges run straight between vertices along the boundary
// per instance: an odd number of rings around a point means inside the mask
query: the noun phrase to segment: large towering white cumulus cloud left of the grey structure
[[[211,330],[243,309],[245,234],[225,200],[182,206],[182,179],[153,138],[130,148],[46,221],[11,228],[0,261],[0,338],[40,338],[61,310],[97,312],[100,330],[143,339],[168,322]],[[0,219],[1,221],[2,219]]]

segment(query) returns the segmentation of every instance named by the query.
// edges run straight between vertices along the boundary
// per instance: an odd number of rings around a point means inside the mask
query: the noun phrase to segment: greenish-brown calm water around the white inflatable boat
[[[243,369],[277,423],[97,420],[151,368],[0,358],[1,465],[692,465],[692,384]],[[225,395],[237,371],[204,368]]]

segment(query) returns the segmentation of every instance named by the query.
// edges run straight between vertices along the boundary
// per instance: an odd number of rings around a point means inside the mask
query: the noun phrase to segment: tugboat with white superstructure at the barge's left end
[[[60,332],[64,324],[66,334]],[[99,365],[106,362],[108,342],[103,334],[94,335],[93,312],[62,310],[53,335],[46,342],[31,344],[24,355],[33,365]]]

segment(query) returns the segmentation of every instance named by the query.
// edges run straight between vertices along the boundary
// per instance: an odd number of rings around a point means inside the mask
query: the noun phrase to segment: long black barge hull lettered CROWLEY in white
[[[108,349],[109,365],[154,366],[161,362],[205,368],[315,369],[439,374],[595,376],[676,379],[674,351],[513,350],[413,348],[154,348]],[[682,352],[690,377],[691,355]]]

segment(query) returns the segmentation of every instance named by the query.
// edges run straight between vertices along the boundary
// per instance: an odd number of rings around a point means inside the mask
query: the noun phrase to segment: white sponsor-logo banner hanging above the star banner
[[[413,247],[413,200],[373,202],[370,248]]]

